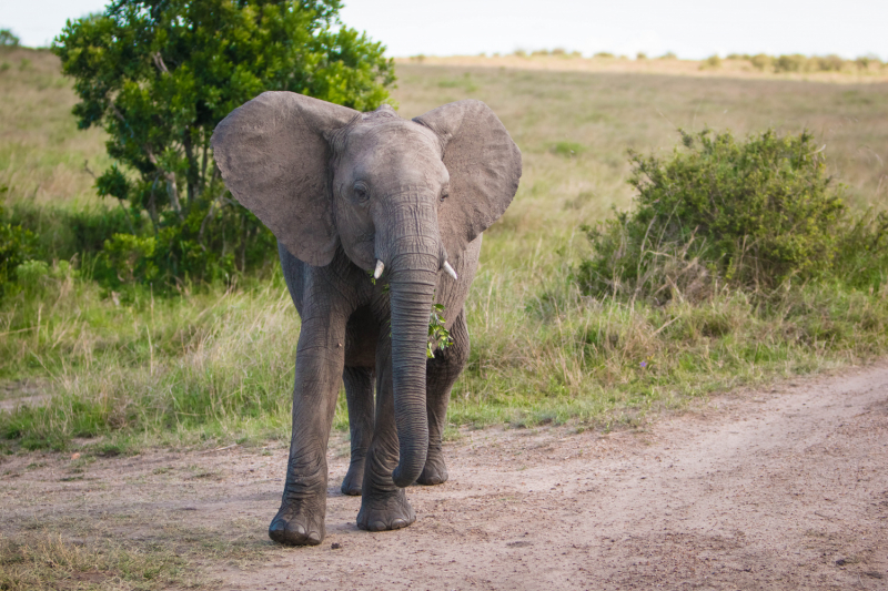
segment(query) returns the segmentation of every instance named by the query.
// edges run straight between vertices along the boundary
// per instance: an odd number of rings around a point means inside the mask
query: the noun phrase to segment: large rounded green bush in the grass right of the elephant
[[[638,195],[632,212],[586,228],[587,293],[696,298],[719,282],[757,291],[830,273],[846,208],[809,133],[679,132],[686,150],[667,159],[629,152]],[[860,234],[871,238],[872,224]]]

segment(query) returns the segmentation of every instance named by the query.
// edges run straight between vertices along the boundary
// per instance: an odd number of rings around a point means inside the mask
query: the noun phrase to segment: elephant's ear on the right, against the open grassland
[[[506,211],[521,179],[521,151],[481,101],[438,106],[413,121],[441,137],[450,196],[438,213],[441,237],[456,255]]]

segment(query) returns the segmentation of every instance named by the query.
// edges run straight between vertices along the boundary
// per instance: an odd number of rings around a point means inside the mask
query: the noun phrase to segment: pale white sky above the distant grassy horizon
[[[1,0],[0,29],[48,45],[67,19],[107,0]],[[346,0],[342,21],[392,57],[511,53],[562,48],[637,52],[875,54],[888,60],[886,0]]]

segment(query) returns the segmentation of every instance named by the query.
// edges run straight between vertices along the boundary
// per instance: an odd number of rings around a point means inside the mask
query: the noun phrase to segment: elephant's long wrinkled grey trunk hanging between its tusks
[[[414,208],[415,207],[415,208]],[[425,407],[425,364],[428,317],[442,264],[437,212],[432,206],[411,207],[390,243],[386,265],[392,310],[392,386],[400,460],[394,483],[408,487],[422,473],[428,451]]]

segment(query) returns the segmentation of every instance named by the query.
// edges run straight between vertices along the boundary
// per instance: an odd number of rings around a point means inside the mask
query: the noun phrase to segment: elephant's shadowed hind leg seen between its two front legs
[[[342,493],[361,495],[364,480],[364,459],[373,439],[373,369],[346,367],[342,373],[345,399],[349,403],[349,430],[352,436],[352,461],[342,480]]]

